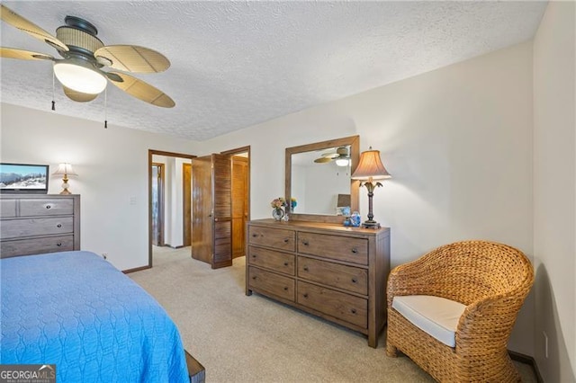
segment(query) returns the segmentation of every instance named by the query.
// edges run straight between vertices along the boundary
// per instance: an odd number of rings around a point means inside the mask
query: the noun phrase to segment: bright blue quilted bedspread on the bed
[[[180,334],[134,281],[90,252],[2,259],[2,364],[64,382],[189,382]]]

